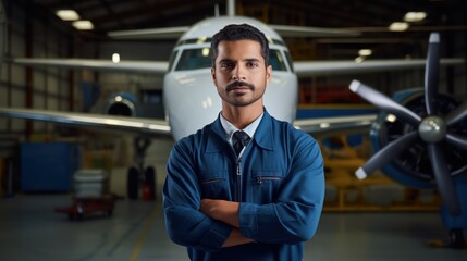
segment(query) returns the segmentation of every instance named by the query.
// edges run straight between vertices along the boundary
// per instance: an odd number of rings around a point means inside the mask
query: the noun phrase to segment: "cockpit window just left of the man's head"
[[[209,48],[185,49],[180,55],[175,71],[196,70],[211,67]]]

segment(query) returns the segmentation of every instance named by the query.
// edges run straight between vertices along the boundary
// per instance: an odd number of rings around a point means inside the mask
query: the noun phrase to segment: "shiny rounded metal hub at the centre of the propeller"
[[[441,141],[446,136],[446,124],[439,116],[427,116],[418,126],[420,138],[429,144]]]

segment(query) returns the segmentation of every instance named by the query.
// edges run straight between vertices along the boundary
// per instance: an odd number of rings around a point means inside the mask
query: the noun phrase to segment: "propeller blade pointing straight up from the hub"
[[[438,95],[440,76],[440,34],[431,33],[425,67],[425,103],[428,115],[434,114],[434,98]]]

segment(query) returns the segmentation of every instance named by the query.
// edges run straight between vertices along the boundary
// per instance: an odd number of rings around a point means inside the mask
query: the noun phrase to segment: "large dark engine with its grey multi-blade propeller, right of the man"
[[[450,228],[445,246],[464,248],[467,228],[467,101],[438,91],[439,34],[430,35],[425,88],[393,99],[358,80],[349,88],[382,113],[370,137],[374,154],[357,170],[365,178],[377,169],[411,187],[438,188],[441,215]]]

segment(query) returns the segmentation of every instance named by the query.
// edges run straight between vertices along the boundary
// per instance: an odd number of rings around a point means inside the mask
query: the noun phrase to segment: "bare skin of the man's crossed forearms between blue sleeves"
[[[200,211],[209,217],[222,221],[233,227],[228,239],[222,247],[233,247],[254,241],[251,238],[244,237],[239,232],[238,202],[226,200],[202,199]]]

